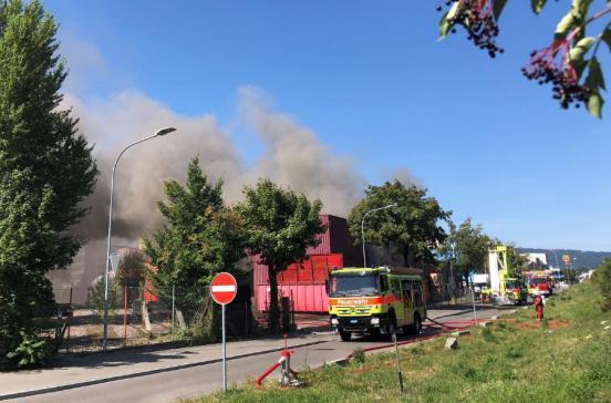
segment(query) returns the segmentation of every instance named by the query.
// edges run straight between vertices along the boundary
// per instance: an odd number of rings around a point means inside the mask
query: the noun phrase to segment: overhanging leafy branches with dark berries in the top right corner
[[[547,3],[547,0],[530,0],[536,14]],[[451,0],[446,4],[448,8],[439,21],[441,39],[460,27],[467,31],[468,40],[487,51],[490,58],[503,53],[497,44],[498,20],[507,0]],[[438,6],[437,10],[442,11],[443,7]],[[551,43],[530,53],[522,74],[541,85],[551,84],[553,99],[561,107],[568,108],[573,103],[579,107],[579,102],[582,102],[590,114],[601,117],[601,90],[605,87],[597,53],[601,42],[611,48],[611,22],[605,23],[596,37],[588,37],[586,30],[609,16],[611,3],[607,0],[572,0],[556,27]]]

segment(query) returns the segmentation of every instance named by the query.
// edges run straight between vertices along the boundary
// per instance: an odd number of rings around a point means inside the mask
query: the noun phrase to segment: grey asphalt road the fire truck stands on
[[[478,311],[478,319],[501,314],[503,310],[487,308]],[[472,319],[473,312],[435,310],[429,311],[431,318],[444,320]],[[423,335],[432,334],[428,329]],[[314,335],[313,335],[314,337]],[[327,335],[328,337],[328,335]],[[410,340],[408,335],[401,335],[400,340]],[[294,370],[304,366],[317,368],[325,362],[342,359],[355,348],[370,348],[389,343],[387,341],[361,337],[351,342],[342,342],[339,337],[315,345],[294,349],[291,356],[291,366]],[[229,385],[239,385],[252,382],[260,373],[279,359],[279,353],[266,353],[244,359],[230,360],[227,364]],[[31,397],[22,397],[20,402],[173,402],[180,397],[194,397],[218,391],[222,388],[221,364],[211,363],[201,366],[163,372],[127,380],[82,386],[60,392],[45,393]],[[269,379],[278,379],[278,371]],[[32,385],[35,386],[35,385]]]

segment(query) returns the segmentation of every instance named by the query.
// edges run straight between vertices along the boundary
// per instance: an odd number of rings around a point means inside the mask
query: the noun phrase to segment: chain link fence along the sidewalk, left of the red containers
[[[89,289],[56,288],[56,350],[86,352],[102,349],[104,331],[104,285]],[[248,291],[249,292],[249,291]],[[154,297],[154,296],[153,296]],[[173,309],[174,306],[174,309]],[[249,335],[255,324],[250,296],[227,306],[227,334]],[[187,328],[180,307],[158,298],[145,297],[142,286],[108,288],[106,348],[166,343],[184,340]]]

